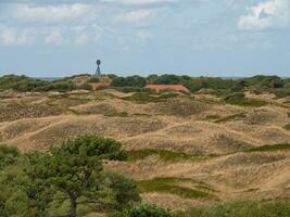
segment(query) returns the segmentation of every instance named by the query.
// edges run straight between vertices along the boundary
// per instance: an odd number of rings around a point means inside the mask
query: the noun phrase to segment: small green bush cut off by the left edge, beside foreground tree
[[[14,146],[0,145],[0,169],[3,169],[5,166],[15,164],[20,152]]]

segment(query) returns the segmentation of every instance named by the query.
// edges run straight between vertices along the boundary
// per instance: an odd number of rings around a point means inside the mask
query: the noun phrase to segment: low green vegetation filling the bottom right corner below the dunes
[[[174,217],[288,217],[289,201],[236,202],[212,207],[197,207],[176,213]]]

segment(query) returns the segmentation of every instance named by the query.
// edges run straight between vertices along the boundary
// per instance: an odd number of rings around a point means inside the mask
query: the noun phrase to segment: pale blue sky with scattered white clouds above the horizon
[[[290,77],[290,0],[0,0],[0,75]]]

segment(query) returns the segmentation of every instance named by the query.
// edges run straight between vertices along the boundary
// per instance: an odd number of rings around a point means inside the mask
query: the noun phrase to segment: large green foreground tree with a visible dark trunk
[[[98,203],[102,197],[103,161],[123,161],[127,153],[113,139],[80,136],[47,153],[33,152],[27,157],[28,177],[42,182],[47,189],[61,192],[70,200],[68,216],[76,217],[79,203]]]

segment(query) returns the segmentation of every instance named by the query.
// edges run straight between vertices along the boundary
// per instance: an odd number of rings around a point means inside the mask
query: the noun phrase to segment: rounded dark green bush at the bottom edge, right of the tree
[[[127,210],[124,217],[172,217],[172,215],[166,209],[141,204]]]

